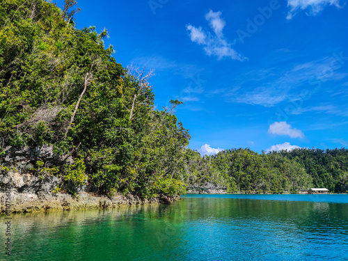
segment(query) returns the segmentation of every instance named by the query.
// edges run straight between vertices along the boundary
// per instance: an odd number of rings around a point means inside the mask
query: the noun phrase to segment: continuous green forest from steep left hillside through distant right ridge
[[[74,3],[61,10],[42,0],[1,1],[2,171],[16,171],[6,160],[11,151],[49,145],[57,160],[31,158],[25,171],[61,177],[56,191],[72,194],[87,185],[154,197],[206,182],[231,192],[348,190],[347,150],[238,149],[210,157],[190,150],[189,132],[174,115],[181,102],[155,109],[150,72],[117,63],[113,47],[104,47],[106,30],[77,29]]]

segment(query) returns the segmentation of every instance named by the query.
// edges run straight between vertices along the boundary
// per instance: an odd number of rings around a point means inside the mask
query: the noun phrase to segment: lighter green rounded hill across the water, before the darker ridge
[[[312,178],[296,161],[276,154],[258,154],[248,149],[225,150],[210,160],[230,192],[296,193],[306,190]]]

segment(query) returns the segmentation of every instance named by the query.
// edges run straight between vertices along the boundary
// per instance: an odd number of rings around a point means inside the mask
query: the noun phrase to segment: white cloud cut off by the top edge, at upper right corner
[[[318,15],[326,6],[336,6],[340,8],[340,0],[287,0],[290,8],[287,19],[292,19],[301,10],[306,11],[306,15]]]

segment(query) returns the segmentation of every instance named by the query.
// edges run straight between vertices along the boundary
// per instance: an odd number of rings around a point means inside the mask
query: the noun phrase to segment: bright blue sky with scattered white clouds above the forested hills
[[[62,1],[58,1],[62,6]],[[77,4],[116,61],[155,70],[158,108],[189,147],[256,152],[348,146],[348,10],[342,0],[128,0]]]

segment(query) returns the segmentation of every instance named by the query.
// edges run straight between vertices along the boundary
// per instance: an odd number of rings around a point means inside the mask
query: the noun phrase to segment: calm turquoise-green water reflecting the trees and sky
[[[0,260],[348,260],[347,195],[187,195],[12,217]]]

